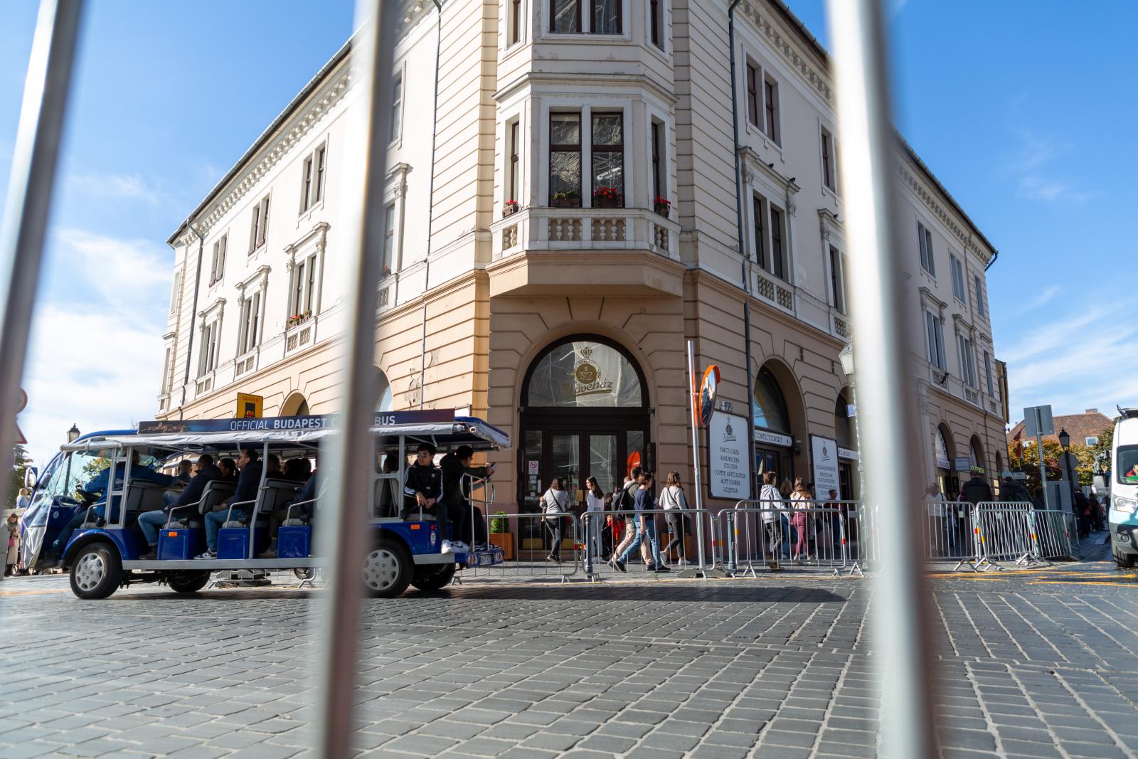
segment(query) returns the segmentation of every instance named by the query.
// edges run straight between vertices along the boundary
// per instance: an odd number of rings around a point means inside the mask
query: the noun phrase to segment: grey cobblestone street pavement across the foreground
[[[1088,562],[932,583],[946,758],[1138,757],[1138,577]],[[0,757],[308,756],[313,595],[0,584]],[[790,572],[368,601],[355,744],[872,757],[867,601],[866,580]]]

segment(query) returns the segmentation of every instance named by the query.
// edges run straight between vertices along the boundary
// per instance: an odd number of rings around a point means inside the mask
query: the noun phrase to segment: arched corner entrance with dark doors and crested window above
[[[522,511],[538,510],[553,477],[580,502],[586,478],[611,493],[633,465],[652,465],[644,374],[611,340],[574,335],[546,347],[526,372],[520,405]]]

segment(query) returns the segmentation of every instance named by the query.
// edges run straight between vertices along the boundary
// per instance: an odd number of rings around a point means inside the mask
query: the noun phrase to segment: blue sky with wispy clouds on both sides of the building
[[[822,0],[792,9],[827,44]],[[352,2],[88,6],[19,423],[46,459],[83,430],[151,418],[172,254],[166,238],[352,31]],[[893,0],[901,131],[1000,250],[989,271],[1013,421],[1138,405],[1138,6]],[[7,190],[36,3],[0,9]],[[1121,297],[1120,297],[1121,296]]]

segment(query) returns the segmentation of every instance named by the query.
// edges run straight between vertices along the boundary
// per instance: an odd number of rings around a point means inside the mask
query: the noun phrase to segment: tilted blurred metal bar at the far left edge
[[[0,440],[16,437],[19,380],[71,90],[82,0],[43,0],[24,80],[8,200],[0,222]],[[7,492],[11,467],[0,468]]]

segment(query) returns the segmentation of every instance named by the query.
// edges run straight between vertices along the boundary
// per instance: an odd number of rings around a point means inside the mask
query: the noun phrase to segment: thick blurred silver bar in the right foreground
[[[865,424],[866,504],[880,506],[874,646],[882,668],[882,756],[935,754],[929,636],[922,596],[917,406],[893,222],[897,141],[890,119],[888,43],[880,0],[830,0],[844,214],[853,267],[853,345],[858,416]],[[858,427],[861,427],[859,424]],[[888,652],[884,653],[884,652]]]

